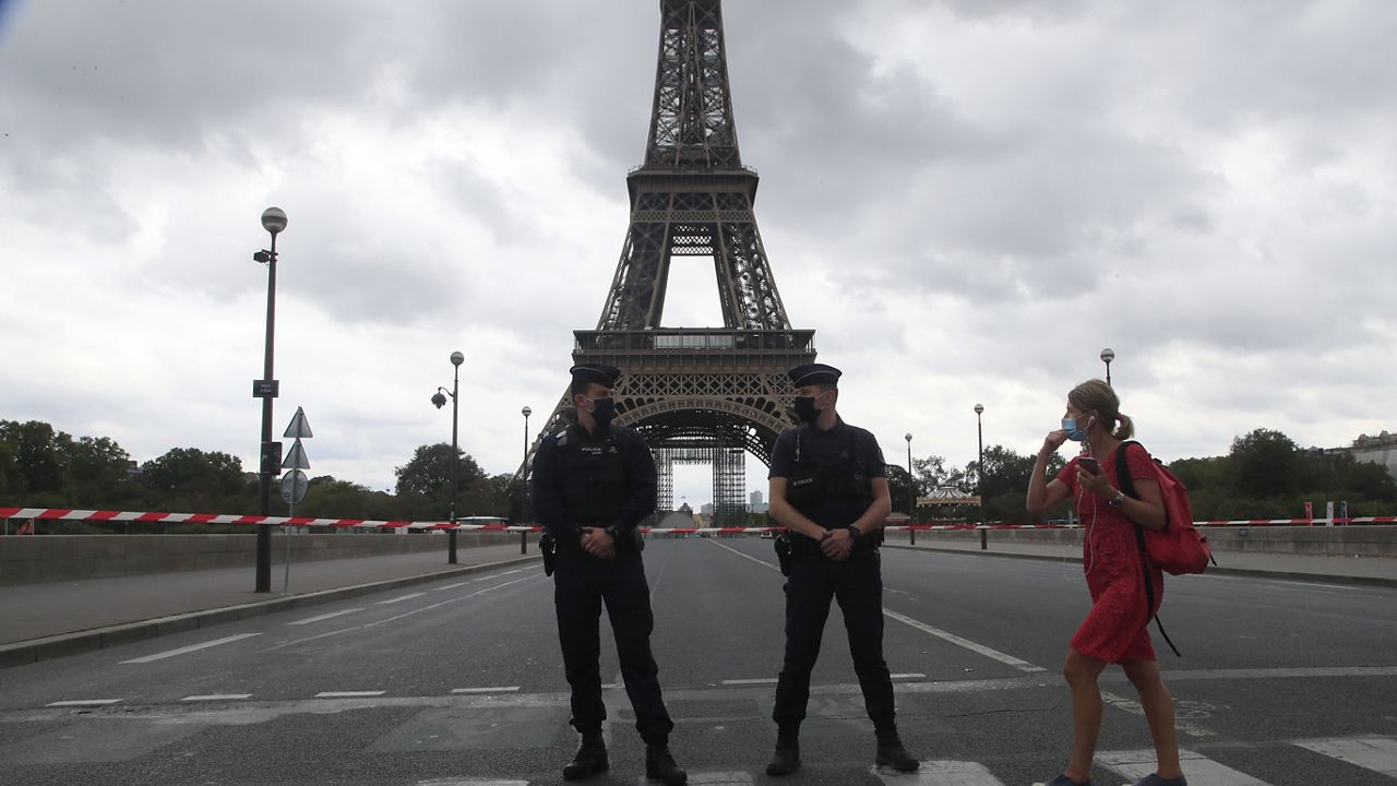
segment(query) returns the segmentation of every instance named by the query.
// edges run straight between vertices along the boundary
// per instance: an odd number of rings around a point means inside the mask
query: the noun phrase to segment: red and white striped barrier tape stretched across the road
[[[71,508],[0,508],[0,519],[39,519],[54,522],[158,522],[168,524],[277,524],[295,527],[359,527],[359,529],[416,529],[416,530],[462,530],[462,531],[541,531],[539,526],[528,524],[462,524],[451,522],[400,522],[370,519],[312,519],[305,516],[239,516],[232,513],[131,513],[119,510],[75,510]],[[1257,527],[1257,526],[1326,526],[1326,524],[1393,524],[1397,516],[1351,516],[1347,519],[1234,519],[1193,522],[1199,527]],[[781,531],[785,527],[641,527],[647,533],[717,533],[749,534]],[[1048,530],[1077,529],[1076,524],[888,524],[887,531],[937,531],[937,530]]]

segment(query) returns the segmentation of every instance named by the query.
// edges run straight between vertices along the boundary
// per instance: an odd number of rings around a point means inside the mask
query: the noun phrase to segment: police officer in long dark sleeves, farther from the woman
[[[612,425],[612,387],[620,369],[580,365],[570,387],[577,422],[543,439],[534,459],[534,502],[556,541],[553,606],[563,669],[573,688],[571,724],[583,736],[563,778],[606,771],[602,722],[599,621],[610,618],[622,680],[645,741],[645,776],[666,786],[687,782],[669,752],[675,724],[659,694],[659,669],[650,652],[654,615],[640,558],[637,526],[655,510],[655,462],[634,429]]]

